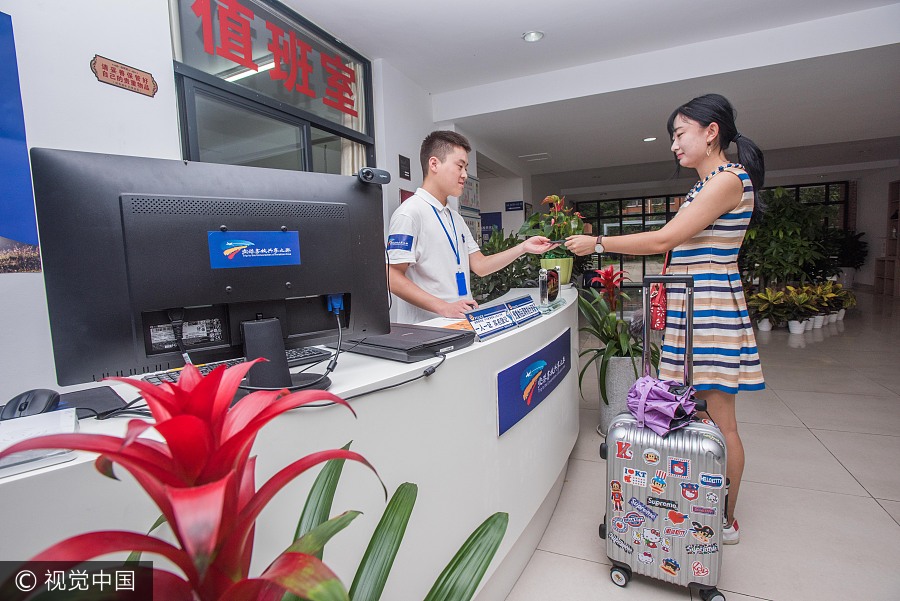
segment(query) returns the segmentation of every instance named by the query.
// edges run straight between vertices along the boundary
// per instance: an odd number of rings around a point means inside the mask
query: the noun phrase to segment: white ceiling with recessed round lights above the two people
[[[468,88],[477,94],[479,86],[494,82],[539,78],[666,49],[679,53],[697,42],[714,43],[897,4],[897,0],[282,1],[364,56],[384,59],[438,96]],[[900,33],[900,23],[892,27]],[[532,29],[544,31],[544,40],[523,42],[521,34]],[[866,32],[846,34],[859,38]],[[679,104],[707,92],[721,93],[733,102],[739,130],[767,152],[769,169],[898,159],[900,43],[866,47],[862,42],[857,48],[498,111],[472,111],[452,121],[464,132],[477,132],[479,142],[504,159],[520,161],[520,170],[551,178],[560,189],[596,183],[597,174],[608,174],[617,166],[657,164],[670,169],[666,119]],[[729,48],[729,54],[703,58],[728,62],[771,50],[736,47]],[[641,141],[648,136],[657,140]],[[779,151],[771,152],[775,150]],[[543,152],[550,155],[548,160],[516,158]]]

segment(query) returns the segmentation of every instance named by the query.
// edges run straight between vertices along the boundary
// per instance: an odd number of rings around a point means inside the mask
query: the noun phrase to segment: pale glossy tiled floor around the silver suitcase
[[[729,601],[900,600],[900,301],[858,296],[843,322],[757,335],[768,387],[738,395],[747,461],[741,542],[724,548],[718,584]],[[582,401],[559,504],[507,601],[691,599],[610,580],[597,415]]]

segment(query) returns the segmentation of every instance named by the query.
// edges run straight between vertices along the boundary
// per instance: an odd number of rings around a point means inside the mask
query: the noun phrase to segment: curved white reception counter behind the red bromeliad
[[[531,291],[510,292],[507,299]],[[546,527],[562,488],[578,435],[577,291],[563,290],[554,312],[439,359],[405,364],[344,353],[331,392],[350,401],[288,412],[260,433],[257,485],[308,453],[351,448],[375,466],[389,493],[418,485],[415,509],[385,589],[384,599],[422,599],[469,534],[488,516],[509,513],[509,527],[477,599],[502,600]],[[498,434],[498,374],[569,332],[568,373],[524,418]],[[126,400],[135,393],[116,387]],[[374,392],[373,392],[374,391]],[[523,400],[523,402],[525,402]],[[120,434],[127,420],[82,422],[84,432]],[[116,482],[94,470],[93,457],[0,479],[0,560],[24,560],[67,536],[92,530],[146,532],[155,506],[121,468]],[[317,472],[317,470],[314,470]],[[291,542],[315,473],[281,491],[257,522],[252,572],[259,573]],[[325,562],[349,586],[385,507],[377,478],[348,462],[334,512],[363,515],[326,547]],[[17,516],[10,519],[11,516]],[[34,517],[31,517],[34,516]]]

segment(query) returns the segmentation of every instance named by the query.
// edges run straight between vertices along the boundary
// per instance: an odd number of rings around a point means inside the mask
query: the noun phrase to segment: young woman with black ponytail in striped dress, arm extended
[[[694,98],[669,117],[678,168],[697,171],[700,181],[662,229],[623,236],[571,236],[578,255],[613,252],[655,255],[671,251],[667,273],[694,278],[694,387],[728,446],[729,523],[722,542],[739,540],[734,509],[744,471],[744,447],[735,418],[735,395],[765,387],[756,340],[737,266],[738,251],[753,214],[765,166],[760,149],[738,132],[734,109],[718,94]],[[738,163],[725,151],[734,143]],[[684,358],[684,287],[666,288],[668,311],[660,377],[680,380]]]

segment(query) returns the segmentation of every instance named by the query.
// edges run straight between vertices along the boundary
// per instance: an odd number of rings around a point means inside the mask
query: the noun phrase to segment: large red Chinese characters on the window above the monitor
[[[203,34],[203,50],[220,56],[236,65],[258,72],[260,64],[253,59],[253,10],[238,0],[194,0],[191,11],[200,20]],[[319,60],[313,60],[313,47],[291,30],[266,20],[268,50],[272,53],[269,77],[280,81],[285,88],[310,98],[319,98],[311,85],[315,73],[324,79],[325,89],[321,101],[353,117],[358,116],[353,84],[356,71],[346,65],[340,56],[318,52]],[[217,43],[218,40],[218,43]],[[266,67],[269,67],[267,62]]]

